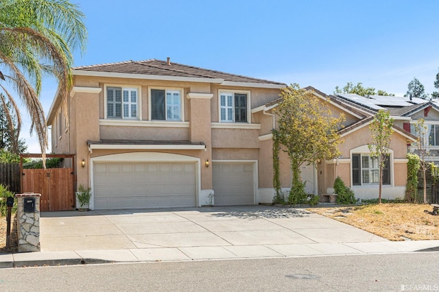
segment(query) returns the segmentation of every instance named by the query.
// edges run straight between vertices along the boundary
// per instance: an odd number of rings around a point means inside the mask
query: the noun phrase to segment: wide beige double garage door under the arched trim
[[[195,206],[193,162],[95,162],[95,209]]]

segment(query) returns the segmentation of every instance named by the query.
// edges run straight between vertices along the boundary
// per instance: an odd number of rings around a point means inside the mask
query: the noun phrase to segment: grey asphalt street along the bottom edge
[[[439,252],[2,269],[1,291],[439,291]]]

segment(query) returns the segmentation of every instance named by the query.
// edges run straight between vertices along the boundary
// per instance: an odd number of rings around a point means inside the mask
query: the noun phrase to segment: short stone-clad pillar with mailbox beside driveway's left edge
[[[19,252],[40,251],[40,196],[37,193],[16,194],[16,221]]]

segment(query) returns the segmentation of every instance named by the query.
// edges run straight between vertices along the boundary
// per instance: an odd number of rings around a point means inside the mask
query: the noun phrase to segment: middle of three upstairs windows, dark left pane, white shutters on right
[[[151,119],[181,121],[181,92],[170,89],[151,89]]]

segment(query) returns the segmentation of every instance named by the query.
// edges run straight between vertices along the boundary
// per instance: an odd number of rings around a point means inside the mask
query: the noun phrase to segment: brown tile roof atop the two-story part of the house
[[[78,66],[73,68],[75,71],[97,71],[107,73],[128,73],[158,76],[174,76],[174,77],[195,77],[195,78],[211,78],[222,79],[228,82],[248,82],[261,84],[276,84],[286,86],[282,82],[274,82],[243,75],[235,75],[220,71],[203,69],[195,66],[178,64],[175,62],[161,61],[156,59],[143,61],[125,61],[117,63],[96,64],[90,66]]]

